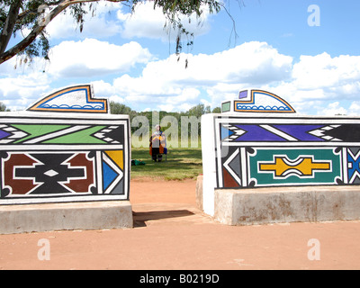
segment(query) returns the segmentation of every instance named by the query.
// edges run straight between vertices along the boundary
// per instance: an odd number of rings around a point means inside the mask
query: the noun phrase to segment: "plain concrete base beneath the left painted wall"
[[[0,206],[0,234],[132,227],[129,201]]]

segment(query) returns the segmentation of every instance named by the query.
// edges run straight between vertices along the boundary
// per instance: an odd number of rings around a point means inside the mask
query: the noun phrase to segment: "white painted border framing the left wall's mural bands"
[[[50,197],[24,197],[0,199],[0,205],[4,204],[27,204],[27,203],[47,203],[47,202],[98,202],[110,200],[129,200],[130,199],[130,117],[128,115],[112,114],[90,114],[90,113],[70,113],[65,116],[51,112],[2,112],[0,114],[0,123],[5,124],[84,124],[84,125],[123,125],[124,126],[124,144],[33,144],[33,145],[0,145],[3,151],[103,151],[103,150],[123,150],[124,169],[124,194],[88,194],[88,195],[58,195]],[[98,159],[98,157],[96,157]],[[98,164],[97,164],[98,165]],[[100,164],[101,165],[101,164]],[[97,180],[99,180],[97,175]],[[102,186],[101,186],[102,187]]]

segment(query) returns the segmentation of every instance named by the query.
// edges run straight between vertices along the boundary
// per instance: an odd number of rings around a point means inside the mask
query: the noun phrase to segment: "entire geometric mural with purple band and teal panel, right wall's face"
[[[215,118],[218,188],[360,184],[360,122]]]

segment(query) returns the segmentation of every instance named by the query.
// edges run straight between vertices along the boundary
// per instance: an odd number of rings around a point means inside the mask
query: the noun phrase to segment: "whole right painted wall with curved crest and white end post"
[[[260,90],[221,109],[202,116],[206,213],[214,189],[360,184],[360,118],[300,115]]]

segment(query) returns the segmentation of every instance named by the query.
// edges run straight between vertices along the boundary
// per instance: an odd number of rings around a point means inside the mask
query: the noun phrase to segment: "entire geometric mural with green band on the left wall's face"
[[[0,203],[129,198],[129,121],[12,121],[0,124]]]

